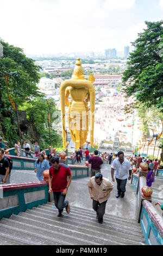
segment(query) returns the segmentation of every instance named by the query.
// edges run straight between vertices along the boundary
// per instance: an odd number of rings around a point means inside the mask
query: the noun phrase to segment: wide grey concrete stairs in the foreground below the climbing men
[[[54,203],[11,215],[0,221],[0,245],[141,245],[145,243],[139,223],[76,206],[57,217]]]

